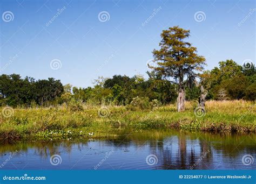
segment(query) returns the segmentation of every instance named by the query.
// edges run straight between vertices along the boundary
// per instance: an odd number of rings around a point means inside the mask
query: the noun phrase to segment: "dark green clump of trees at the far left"
[[[2,105],[30,106],[32,103],[45,105],[52,102],[63,93],[63,86],[59,80],[49,78],[38,80],[31,77],[22,79],[17,74],[0,76],[0,103]]]

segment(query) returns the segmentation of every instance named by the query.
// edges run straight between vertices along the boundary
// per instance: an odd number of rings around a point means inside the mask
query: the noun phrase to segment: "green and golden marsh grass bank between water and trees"
[[[186,102],[185,112],[176,112],[175,105],[165,105],[144,111],[126,107],[105,108],[84,105],[83,110],[69,107],[29,108],[9,110],[2,108],[0,139],[73,139],[115,137],[131,127],[134,132],[151,128],[178,128],[216,132],[256,131],[256,108],[247,101],[208,101],[203,117],[194,115],[196,103]],[[100,113],[99,113],[100,112]],[[6,113],[5,113],[6,114]]]

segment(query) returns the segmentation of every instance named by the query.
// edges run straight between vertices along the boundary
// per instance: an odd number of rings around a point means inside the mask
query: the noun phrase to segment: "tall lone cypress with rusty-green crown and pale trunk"
[[[185,110],[185,86],[191,78],[198,76],[203,70],[205,58],[197,54],[197,48],[191,46],[186,39],[190,37],[190,30],[179,26],[170,27],[161,33],[160,49],[153,50],[156,67],[149,66],[164,77],[174,79],[178,85],[177,109]]]

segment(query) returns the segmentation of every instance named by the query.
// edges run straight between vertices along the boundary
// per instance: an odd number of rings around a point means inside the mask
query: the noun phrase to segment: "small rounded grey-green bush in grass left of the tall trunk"
[[[130,110],[146,110],[151,109],[151,104],[148,97],[135,97],[132,98],[131,103],[127,106]]]

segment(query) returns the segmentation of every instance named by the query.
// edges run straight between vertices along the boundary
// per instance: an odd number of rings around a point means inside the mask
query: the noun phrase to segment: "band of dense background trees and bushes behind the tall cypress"
[[[17,74],[0,76],[1,105],[12,107],[33,105],[57,105],[62,103],[130,104],[135,97],[147,101],[157,100],[159,104],[174,103],[177,98],[177,84],[163,79],[156,72],[147,72],[148,79],[114,75],[110,79],[96,80],[94,87],[77,88],[70,84],[63,86],[59,80],[49,78],[38,80],[22,79]],[[255,100],[256,72],[254,67],[244,69],[233,60],[219,62],[219,67],[204,72],[201,81],[208,90],[208,100]],[[186,100],[198,100],[200,89],[197,83],[186,86]]]

